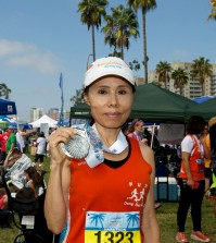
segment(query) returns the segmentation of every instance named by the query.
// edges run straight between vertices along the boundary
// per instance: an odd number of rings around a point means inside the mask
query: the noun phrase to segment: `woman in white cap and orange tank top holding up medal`
[[[62,153],[60,143],[69,138],[76,142],[76,129],[61,127],[49,138],[50,178],[45,211],[54,233],[67,224],[66,243],[120,239],[160,242],[153,151],[132,138],[126,139],[120,130],[130,114],[134,96],[135,80],[128,65],[118,58],[99,59],[85,77],[84,98],[94,120],[88,135],[88,155],[69,159]]]

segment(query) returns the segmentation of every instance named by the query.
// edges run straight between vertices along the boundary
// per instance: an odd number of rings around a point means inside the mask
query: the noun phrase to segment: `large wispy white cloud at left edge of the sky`
[[[41,51],[31,44],[0,39],[0,57],[12,66],[31,68],[41,73],[55,73],[59,70],[53,53]]]

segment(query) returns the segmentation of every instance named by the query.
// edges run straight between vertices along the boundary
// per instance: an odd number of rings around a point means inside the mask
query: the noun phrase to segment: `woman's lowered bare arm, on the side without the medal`
[[[143,209],[144,243],[160,243],[161,242],[160,227],[154,209],[154,179],[155,179],[154,154],[153,150],[144,144],[142,144],[140,147],[143,158],[152,167],[152,173],[150,178],[151,180],[150,191],[147,196],[147,203]]]

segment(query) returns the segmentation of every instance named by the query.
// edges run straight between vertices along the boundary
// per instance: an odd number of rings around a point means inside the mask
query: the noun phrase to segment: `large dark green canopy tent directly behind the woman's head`
[[[149,122],[187,123],[188,109],[198,104],[154,84],[137,87],[130,119],[140,118]],[[89,118],[90,110],[85,104],[71,108],[71,119]]]

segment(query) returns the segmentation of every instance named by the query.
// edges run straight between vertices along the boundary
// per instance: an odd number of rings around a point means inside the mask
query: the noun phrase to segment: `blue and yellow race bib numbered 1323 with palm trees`
[[[140,214],[87,211],[85,243],[141,243]]]

